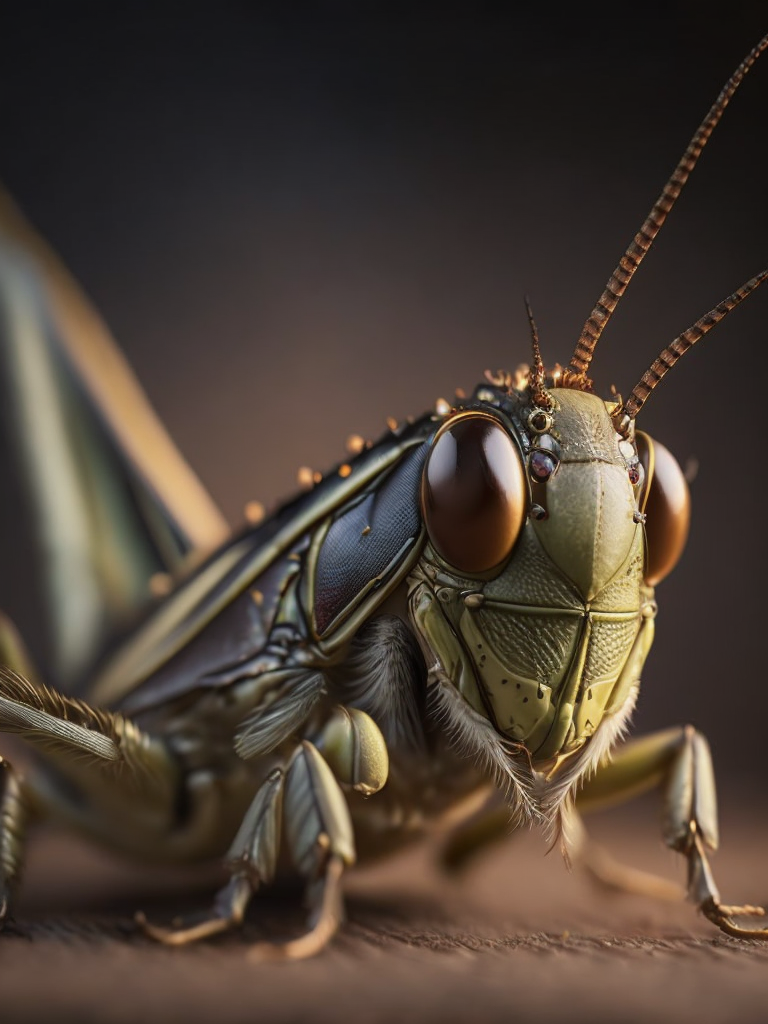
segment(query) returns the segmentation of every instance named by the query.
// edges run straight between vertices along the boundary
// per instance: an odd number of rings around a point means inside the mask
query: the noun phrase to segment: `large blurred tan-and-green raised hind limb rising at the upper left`
[[[99,315],[1,189],[0,387],[39,552],[46,675],[76,689],[147,604],[150,581],[229,529]]]

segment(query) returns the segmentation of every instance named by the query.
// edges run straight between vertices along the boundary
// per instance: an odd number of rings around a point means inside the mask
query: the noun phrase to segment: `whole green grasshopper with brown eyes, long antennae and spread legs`
[[[768,270],[666,346],[626,399],[601,398],[589,377],[767,47],[768,36],[707,114],[565,368],[545,368],[528,307],[529,365],[393,424],[233,535],[78,286],[2,200],[5,403],[49,552],[55,642],[43,672],[2,620],[0,730],[37,757],[24,771],[0,759],[0,921],[28,831],[52,818],[143,860],[224,858],[228,882],[202,916],[165,927],[137,914],[170,945],[237,927],[259,888],[297,876],[305,932],[253,955],[303,957],[343,920],[346,868],[462,810],[452,856],[500,820],[534,822],[566,857],[634,884],[598,856],[580,812],[659,785],[689,898],[724,932],[768,938],[740,923],[765,910],[723,903],[712,874],[705,737],[685,726],[623,741],[655,587],[689,519],[683,472],[636,420]]]

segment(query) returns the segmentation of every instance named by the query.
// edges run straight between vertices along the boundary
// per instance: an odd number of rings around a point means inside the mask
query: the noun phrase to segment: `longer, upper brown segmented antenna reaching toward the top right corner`
[[[741,84],[746,73],[755,63],[757,58],[768,47],[768,35],[764,36],[757,46],[750,51],[735,72],[728,79],[725,87],[718,98],[713,103],[707,117],[696,129],[693,138],[680,159],[671,177],[662,189],[662,194],[653,204],[653,207],[645,219],[640,230],[630,243],[626,253],[618,261],[618,265],[608,279],[605,291],[598,299],[597,305],[590,313],[587,322],[582,328],[582,334],[577,342],[573,355],[571,356],[567,375],[571,378],[584,379],[592,361],[595,346],[602,334],[605,325],[608,323],[611,313],[616,307],[618,300],[632,280],[635,270],[642,262],[646,253],[650,249],[653,240],[667,219],[675,201],[682,191],[683,185],[696,166],[701,151],[709,141],[710,135],[728,105],[728,102]],[[734,293],[737,294],[737,293]],[[727,300],[726,300],[727,301]],[[691,328],[690,330],[693,330]],[[708,328],[709,330],[709,328]],[[578,386],[574,381],[575,386]]]

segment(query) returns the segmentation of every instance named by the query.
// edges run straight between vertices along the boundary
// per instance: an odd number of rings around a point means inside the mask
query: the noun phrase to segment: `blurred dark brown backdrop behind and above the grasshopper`
[[[517,7],[517,5],[515,5]],[[565,361],[761,3],[5,9],[0,178],[111,325],[232,523],[351,432],[484,368]],[[625,392],[768,263],[768,63],[749,76],[603,338]],[[637,730],[693,721],[762,794],[768,289],[642,424],[699,461]],[[0,603],[37,627],[14,494]]]

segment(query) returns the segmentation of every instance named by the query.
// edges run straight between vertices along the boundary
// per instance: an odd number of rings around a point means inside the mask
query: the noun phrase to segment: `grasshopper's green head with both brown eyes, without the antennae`
[[[688,525],[687,484],[666,449],[622,436],[614,402],[547,395],[481,386],[444,421],[424,469],[429,543],[411,591],[434,680],[535,764],[581,750],[629,708],[624,666]]]

